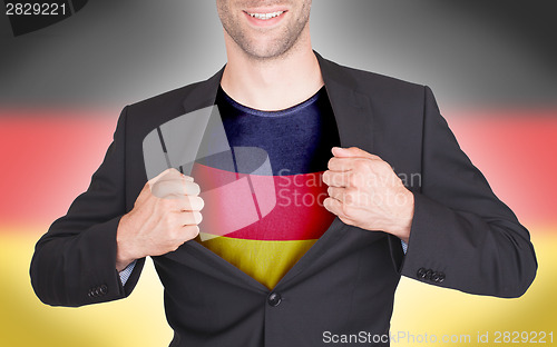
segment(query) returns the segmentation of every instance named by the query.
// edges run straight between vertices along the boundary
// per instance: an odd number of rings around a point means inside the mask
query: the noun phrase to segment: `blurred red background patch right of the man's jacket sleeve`
[[[557,221],[557,110],[476,110],[449,125],[520,221],[527,227]]]

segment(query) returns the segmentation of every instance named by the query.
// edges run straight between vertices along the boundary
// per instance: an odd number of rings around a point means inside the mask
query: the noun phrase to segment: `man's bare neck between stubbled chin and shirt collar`
[[[309,38],[297,43],[275,59],[254,59],[237,46],[226,44],[228,62],[222,88],[236,102],[265,111],[286,109],[311,98],[324,82]]]

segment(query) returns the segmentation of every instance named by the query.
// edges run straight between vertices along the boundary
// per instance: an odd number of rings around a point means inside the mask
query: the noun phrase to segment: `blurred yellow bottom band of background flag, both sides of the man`
[[[525,224],[530,229],[539,262],[536,280],[525,296],[519,299],[501,300],[487,296],[463,295],[458,290],[447,290],[402,277],[397,288],[391,331],[395,336],[398,333],[405,334],[405,337],[395,345],[401,347],[557,346],[555,320],[557,222],[536,225],[536,220],[525,220]],[[33,252],[32,246],[46,231],[46,227],[47,222],[17,226],[0,221],[0,275],[2,276],[0,346],[160,346],[160,341],[172,340],[174,333],[165,318],[163,286],[150,260],[146,261],[134,294],[124,300],[78,309],[50,307],[40,303],[29,285],[29,261]],[[369,305],[369,303],[360,304]],[[448,315],[451,315],[451,319],[447,319]],[[92,328],[91,323],[95,323]],[[504,343],[502,334],[511,331],[512,340],[514,330],[519,334],[528,333],[529,341]],[[121,331],[134,331],[134,334],[121,334]],[[540,331],[545,334],[546,344],[534,344],[541,339]],[[549,343],[550,331],[554,331],[553,344]],[[428,339],[436,335],[438,343],[419,343],[420,336],[424,334],[428,334]],[[490,344],[478,343],[478,334],[489,334]],[[440,344],[443,335],[449,338],[470,335],[471,343]],[[416,337],[414,341],[411,340],[412,336]],[[494,344],[494,339],[498,336],[501,343]]]

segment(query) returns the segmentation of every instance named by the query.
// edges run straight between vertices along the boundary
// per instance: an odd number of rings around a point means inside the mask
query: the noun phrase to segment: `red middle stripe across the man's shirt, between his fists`
[[[201,230],[250,240],[319,239],[334,219],[323,207],[326,185],[321,175],[236,179],[236,172],[196,163],[192,176],[205,201]]]

